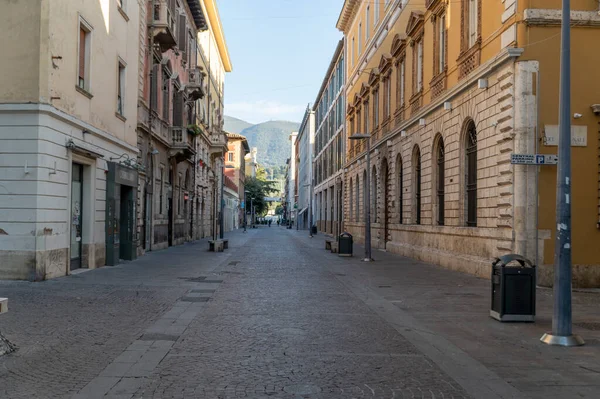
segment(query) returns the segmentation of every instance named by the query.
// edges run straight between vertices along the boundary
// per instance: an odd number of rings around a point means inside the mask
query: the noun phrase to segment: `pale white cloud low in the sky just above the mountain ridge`
[[[225,104],[225,115],[233,116],[250,123],[269,120],[300,121],[306,105],[283,104],[277,101],[258,100]]]

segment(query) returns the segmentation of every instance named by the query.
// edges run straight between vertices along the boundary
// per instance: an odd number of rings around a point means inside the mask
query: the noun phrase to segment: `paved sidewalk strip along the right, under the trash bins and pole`
[[[323,248],[323,235],[296,238],[329,257],[348,285],[358,284],[410,315],[426,334],[480,362],[532,398],[600,398],[600,290],[573,293],[574,332],[586,345],[551,347],[539,339],[552,329],[552,290],[538,288],[535,323],[500,323],[489,317],[490,281],[375,250],[365,263],[364,247],[353,258]],[[453,350],[452,348],[449,348]]]

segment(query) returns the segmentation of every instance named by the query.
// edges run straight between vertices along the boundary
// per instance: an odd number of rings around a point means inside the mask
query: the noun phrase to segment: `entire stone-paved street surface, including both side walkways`
[[[574,298],[588,345],[551,348],[548,290],[539,322],[500,324],[485,280],[339,258],[322,238],[263,227],[225,253],[198,242],[2,282],[0,331],[19,349],[0,358],[0,397],[598,397],[598,293]]]

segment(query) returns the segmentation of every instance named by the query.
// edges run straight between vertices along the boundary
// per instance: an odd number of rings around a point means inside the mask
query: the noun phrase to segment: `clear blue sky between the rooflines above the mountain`
[[[233,72],[225,114],[300,122],[315,101],[341,32],[343,0],[217,0]]]

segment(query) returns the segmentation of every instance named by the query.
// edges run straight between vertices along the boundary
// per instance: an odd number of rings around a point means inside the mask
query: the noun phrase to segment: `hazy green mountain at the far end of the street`
[[[232,130],[244,124],[248,126],[243,130]],[[299,128],[300,124],[296,122],[269,121],[252,125],[240,119],[225,117],[225,130],[246,136],[250,147],[258,148],[258,163],[265,167],[285,165],[291,152],[290,133],[297,132]]]

